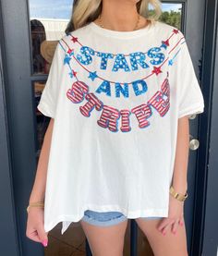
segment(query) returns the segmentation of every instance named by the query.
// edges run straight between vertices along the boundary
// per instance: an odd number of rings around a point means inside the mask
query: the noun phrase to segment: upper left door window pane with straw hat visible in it
[[[32,73],[48,74],[55,42],[65,35],[72,1],[30,0],[29,5]]]

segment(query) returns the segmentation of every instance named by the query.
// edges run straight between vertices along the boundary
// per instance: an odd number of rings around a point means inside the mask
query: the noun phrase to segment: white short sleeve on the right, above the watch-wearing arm
[[[175,45],[169,54],[169,70],[175,83],[177,116],[200,114],[204,111],[204,99],[200,90],[188,44],[184,34],[178,30]]]

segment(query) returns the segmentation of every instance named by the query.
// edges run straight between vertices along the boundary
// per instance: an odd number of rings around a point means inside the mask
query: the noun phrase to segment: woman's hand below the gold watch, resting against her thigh
[[[157,227],[160,232],[162,232],[163,236],[165,236],[166,232],[169,230],[173,234],[176,235],[176,230],[180,226],[184,224],[184,201],[178,201],[173,196],[169,195],[169,213],[168,217],[164,217],[163,221]]]

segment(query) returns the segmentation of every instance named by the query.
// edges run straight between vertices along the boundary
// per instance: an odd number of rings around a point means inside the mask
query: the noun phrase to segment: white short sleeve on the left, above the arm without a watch
[[[40,102],[37,105],[37,108],[44,116],[55,118],[55,108],[60,87],[63,59],[63,50],[58,42],[55,47],[55,54],[48,78],[43,88]]]

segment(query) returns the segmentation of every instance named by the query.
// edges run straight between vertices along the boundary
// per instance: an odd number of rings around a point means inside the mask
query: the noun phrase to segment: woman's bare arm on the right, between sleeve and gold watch
[[[188,116],[178,119],[176,140],[176,160],[172,185],[176,192],[185,194],[188,189],[188,152],[189,152],[189,120]]]

